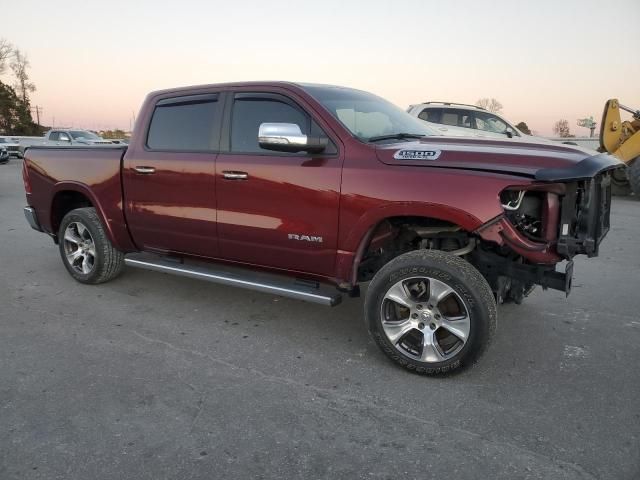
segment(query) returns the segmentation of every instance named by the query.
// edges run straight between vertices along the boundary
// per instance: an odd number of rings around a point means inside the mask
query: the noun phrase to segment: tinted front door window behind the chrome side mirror
[[[258,129],[262,123],[295,123],[305,135],[309,135],[311,129],[310,117],[286,97],[239,93],[233,101],[231,151],[272,153],[258,145]]]

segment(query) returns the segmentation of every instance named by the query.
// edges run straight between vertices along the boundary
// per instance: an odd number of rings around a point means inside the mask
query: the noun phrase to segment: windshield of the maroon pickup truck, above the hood
[[[375,141],[372,139],[376,137],[437,135],[417,118],[371,93],[324,85],[303,88],[363,142]]]

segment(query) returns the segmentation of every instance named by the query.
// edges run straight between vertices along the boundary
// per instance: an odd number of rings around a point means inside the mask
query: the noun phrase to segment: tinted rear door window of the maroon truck
[[[151,117],[147,146],[165,151],[213,150],[217,109],[217,94],[160,100]]]

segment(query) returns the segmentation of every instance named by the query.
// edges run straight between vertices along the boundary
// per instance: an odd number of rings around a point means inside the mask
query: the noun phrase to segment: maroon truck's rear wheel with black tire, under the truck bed
[[[84,265],[79,265],[77,262],[73,263],[69,260],[68,255],[73,255],[79,251],[79,249],[74,250],[74,246],[78,245],[77,241],[70,241],[65,238],[65,232],[67,232],[67,228],[70,225],[70,233],[75,233],[76,239],[83,240],[82,243],[85,245],[93,245],[92,250],[89,248],[86,250],[87,254],[85,256],[89,259],[93,258],[92,262],[88,262],[90,270],[87,272],[82,271]],[[79,226],[86,229],[86,232],[83,230],[83,235],[78,235]],[[87,284],[104,283],[122,273],[124,254],[114,248],[109,241],[95,208],[77,208],[67,213],[60,223],[58,240],[62,263],[69,274],[78,282]],[[90,254],[90,251],[93,251],[94,254]]]

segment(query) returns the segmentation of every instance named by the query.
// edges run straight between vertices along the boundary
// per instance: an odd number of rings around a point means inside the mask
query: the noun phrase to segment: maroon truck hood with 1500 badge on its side
[[[542,181],[589,178],[623,165],[609,154],[592,153],[572,145],[460,137],[376,146],[378,159],[387,165],[478,170]]]

